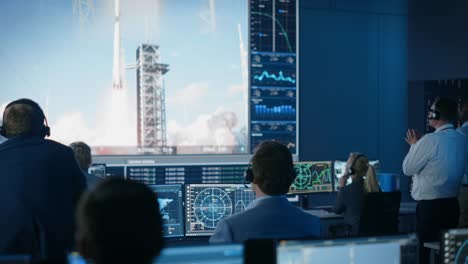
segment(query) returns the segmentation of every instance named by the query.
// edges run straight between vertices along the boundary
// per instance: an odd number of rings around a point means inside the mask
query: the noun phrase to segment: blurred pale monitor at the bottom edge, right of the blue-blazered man
[[[417,263],[414,235],[285,241],[277,248],[277,263]]]

